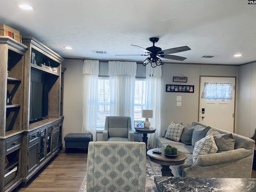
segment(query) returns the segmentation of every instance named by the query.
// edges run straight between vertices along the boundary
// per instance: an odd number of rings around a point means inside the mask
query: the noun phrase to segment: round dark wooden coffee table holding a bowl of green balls
[[[162,152],[161,154],[153,153],[153,150]],[[174,176],[170,165],[181,165],[185,162],[187,155],[179,151],[176,158],[167,158],[164,155],[164,148],[155,148],[147,151],[148,157],[152,162],[158,163],[162,166],[162,176]]]

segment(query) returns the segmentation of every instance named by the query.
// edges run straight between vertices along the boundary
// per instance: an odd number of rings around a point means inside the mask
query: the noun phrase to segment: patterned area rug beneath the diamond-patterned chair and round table
[[[162,176],[161,166],[149,160],[147,156],[147,171],[146,171],[146,190],[145,192],[156,192],[156,184],[154,183],[155,176]],[[86,175],[79,192],[86,192]]]

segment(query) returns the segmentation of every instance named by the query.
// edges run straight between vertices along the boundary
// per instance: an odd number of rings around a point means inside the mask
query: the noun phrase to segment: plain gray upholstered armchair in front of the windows
[[[134,141],[131,118],[125,116],[106,116],[102,141]]]

